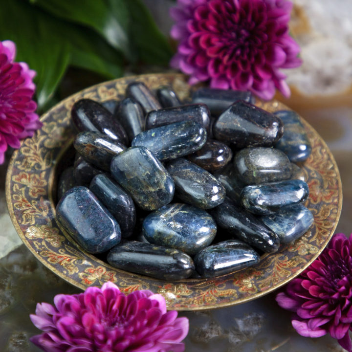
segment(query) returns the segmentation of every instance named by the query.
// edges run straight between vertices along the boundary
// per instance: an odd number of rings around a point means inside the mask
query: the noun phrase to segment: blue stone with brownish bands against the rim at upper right
[[[307,160],[311,145],[297,112],[281,110],[274,113],[284,123],[285,132],[275,148],[282,150],[292,162]]]

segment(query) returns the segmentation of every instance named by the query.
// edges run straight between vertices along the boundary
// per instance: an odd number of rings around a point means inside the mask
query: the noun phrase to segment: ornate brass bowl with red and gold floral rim
[[[43,128],[22,142],[8,167],[6,199],[11,219],[28,249],[51,271],[79,288],[112,281],[129,293],[150,289],[166,299],[168,308],[200,310],[220,308],[263,296],[285,285],[311,264],[328,244],[340,217],[342,188],[336,162],[325,142],[304,120],[312,154],[303,165],[309,185],[308,208],[314,225],[299,240],[265,254],[258,265],[213,279],[166,282],[115,269],[67,241],[55,220],[58,168],[74,139],[70,127],[72,104],[81,98],[97,101],[122,99],[133,81],[149,88],[171,85],[181,99],[191,88],[182,74],[148,74],[116,79],[80,91],[63,100],[41,120]],[[258,101],[269,110],[287,107],[277,101]],[[61,166],[60,166],[61,165]]]

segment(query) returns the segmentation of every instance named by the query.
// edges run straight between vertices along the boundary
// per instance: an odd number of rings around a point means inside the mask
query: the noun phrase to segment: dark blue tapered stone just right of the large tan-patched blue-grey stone
[[[185,203],[211,209],[224,200],[225,188],[216,177],[191,161],[179,158],[166,169],[174,179],[175,195]]]

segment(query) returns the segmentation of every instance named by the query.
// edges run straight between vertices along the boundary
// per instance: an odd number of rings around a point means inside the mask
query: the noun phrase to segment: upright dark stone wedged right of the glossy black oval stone
[[[139,103],[130,98],[120,102],[114,111],[114,117],[120,121],[130,141],[144,131],[144,112]]]

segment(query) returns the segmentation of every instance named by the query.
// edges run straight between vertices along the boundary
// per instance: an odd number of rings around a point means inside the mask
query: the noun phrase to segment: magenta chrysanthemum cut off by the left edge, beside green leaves
[[[8,145],[19,148],[20,139],[42,126],[32,100],[36,72],[26,63],[14,62],[15,55],[13,42],[0,42],[0,164]]]

